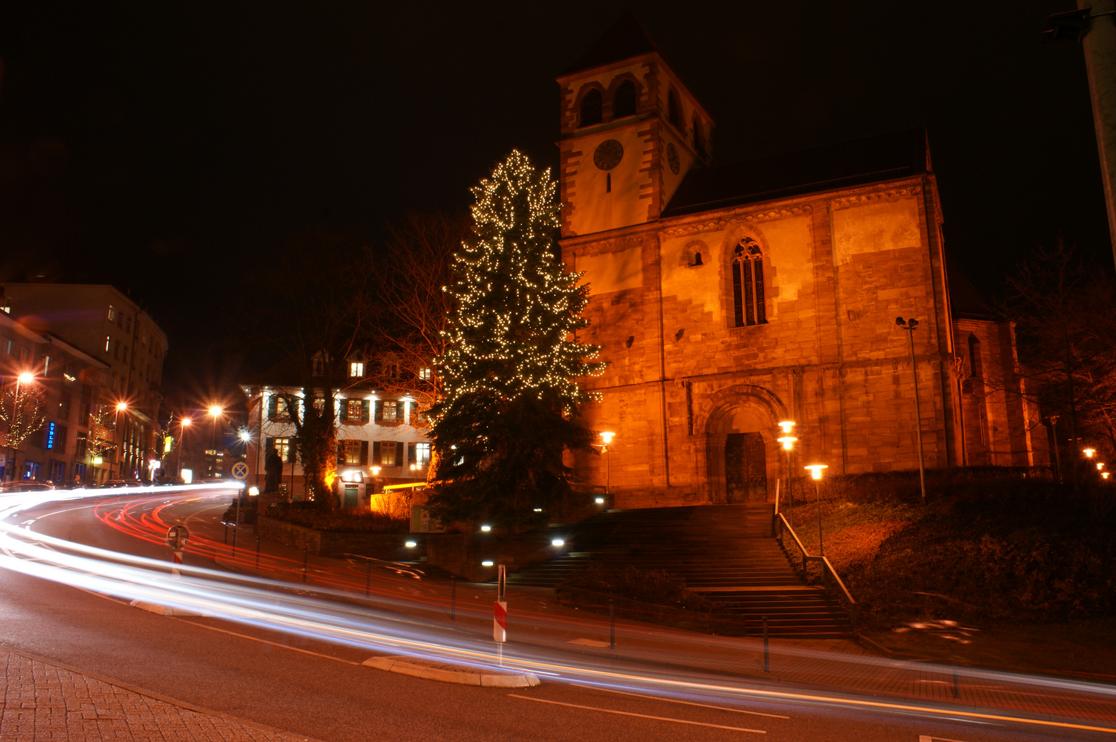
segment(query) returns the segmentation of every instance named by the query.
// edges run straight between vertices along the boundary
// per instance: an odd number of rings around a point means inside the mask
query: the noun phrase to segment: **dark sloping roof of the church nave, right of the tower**
[[[691,170],[661,219],[927,172],[926,129],[918,126]]]

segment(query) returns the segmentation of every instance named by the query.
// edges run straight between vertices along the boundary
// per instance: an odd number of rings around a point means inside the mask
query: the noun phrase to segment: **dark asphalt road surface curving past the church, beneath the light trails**
[[[217,532],[228,494],[175,505],[174,518]],[[119,512],[115,498],[47,503],[18,515],[37,533],[165,560],[165,545],[144,541],[96,517]],[[142,507],[151,517],[165,504]],[[33,520],[32,520],[33,518]],[[194,556],[196,566],[219,568]],[[206,563],[208,562],[208,563]],[[327,742],[365,740],[679,740],[910,741],[1114,739],[1116,735],[995,719],[902,710],[863,710],[816,700],[742,698],[719,692],[739,680],[693,673],[704,688],[664,697],[632,663],[614,668],[633,680],[623,692],[587,678],[543,676],[531,688],[439,683],[360,665],[375,654],[211,617],[160,616],[124,599],[10,570],[0,571],[0,644],[169,698]],[[446,645],[464,637],[439,628]],[[555,656],[556,662],[566,657]],[[588,678],[591,682],[591,677]],[[644,685],[641,690],[641,685]],[[757,685],[758,687],[758,685]],[[791,690],[791,688],[787,688]],[[837,696],[834,696],[835,698]],[[959,709],[972,711],[972,707]],[[992,714],[988,714],[992,715]],[[1094,721],[1093,724],[1096,724]],[[1113,724],[1100,724],[1113,726]]]

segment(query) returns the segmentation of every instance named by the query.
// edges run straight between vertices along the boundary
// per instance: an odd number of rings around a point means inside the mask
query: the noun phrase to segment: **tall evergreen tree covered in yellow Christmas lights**
[[[454,254],[446,351],[435,360],[430,507],[443,520],[542,521],[570,493],[562,451],[593,439],[577,406],[595,395],[577,379],[605,364],[591,360],[598,346],[576,340],[589,297],[552,251],[556,186],[512,152],[472,189],[473,234]]]

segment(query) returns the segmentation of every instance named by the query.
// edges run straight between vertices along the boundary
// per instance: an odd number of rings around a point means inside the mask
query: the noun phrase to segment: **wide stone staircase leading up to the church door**
[[[508,582],[552,587],[590,563],[664,569],[757,628],[767,616],[772,636],[849,636],[848,613],[795,571],[772,518],[766,502],[608,511],[570,527],[566,555]]]

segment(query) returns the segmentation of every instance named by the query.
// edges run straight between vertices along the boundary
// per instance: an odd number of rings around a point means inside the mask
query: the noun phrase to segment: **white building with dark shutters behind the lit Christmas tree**
[[[360,369],[363,372],[363,369]],[[367,505],[367,495],[386,484],[426,481],[430,465],[430,439],[420,418],[417,403],[407,395],[385,394],[360,380],[334,391],[337,402],[337,473],[343,481],[362,480],[360,495],[343,500],[347,507]],[[249,430],[248,483],[263,490],[266,459],[275,449],[283,462],[280,491],[300,500],[306,497],[306,475],[295,454],[295,425],[287,411],[287,399],[305,399],[300,387],[281,385],[241,385],[248,396]],[[301,402],[305,404],[305,402]],[[261,414],[262,413],[262,414]]]

